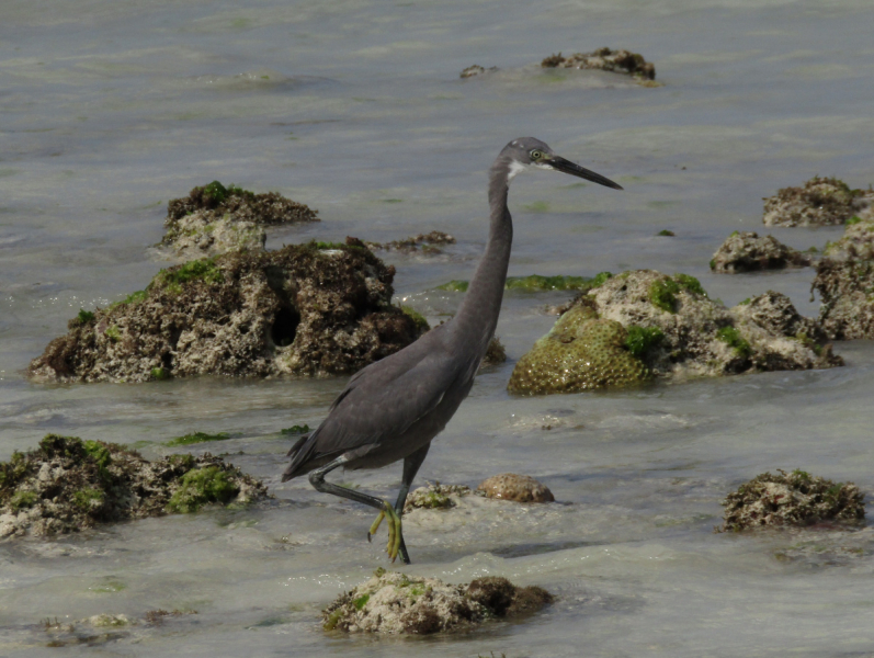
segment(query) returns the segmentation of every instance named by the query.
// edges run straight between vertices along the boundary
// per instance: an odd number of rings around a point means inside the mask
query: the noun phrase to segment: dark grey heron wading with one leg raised
[[[407,495],[431,441],[443,431],[470,393],[479,363],[498,325],[513,224],[507,206],[510,181],[522,171],[560,171],[622,190],[610,179],[553,152],[534,137],[510,141],[489,169],[490,226],[486,252],[477,265],[458,313],[402,350],[355,373],[309,435],[288,451],[292,462],[282,481],[309,474],[317,491],[379,510],[370,541],[383,519],[388,525],[386,552],[410,564],[401,532]],[[404,460],[397,502],[368,496],[325,479],[331,470],[382,468]]]

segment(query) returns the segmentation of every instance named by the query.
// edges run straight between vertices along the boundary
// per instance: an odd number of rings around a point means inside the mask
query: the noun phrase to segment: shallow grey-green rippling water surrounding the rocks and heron
[[[157,456],[159,441],[228,431],[220,450],[276,497],[0,545],[0,654],[874,655],[871,527],[712,532],[725,494],[763,470],[874,489],[867,342],[839,344],[847,367],[831,371],[519,399],[504,390],[512,362],[552,325],[544,306],[567,296],[508,294],[498,333],[510,361],[478,378],[419,481],[522,472],[559,504],[412,513],[408,569],[453,582],[504,575],[559,598],[524,622],[427,639],[339,637],[318,623],[385,565],[364,538],[371,510],[279,483],[279,430],[317,423],[342,381],[44,386],[22,375],[80,307],[140,290],[167,264],[148,251],[167,201],[214,179],[319,209],[320,224],[274,232],[274,247],[453,234],[441,257],[386,256],[398,298],[439,320],[461,296],[433,287],[469,276],[486,170],[521,135],[626,191],[518,178],[511,274],[683,271],[727,304],[772,288],[814,315],[810,270],[717,276],[707,262],[730,231],[761,229],[761,197],[781,186],[817,173],[872,182],[870,2],[10,0],[0,14],[0,458],[47,432],[150,441],[144,453]],[[665,86],[534,66],[602,45],[643,53]],[[474,63],[501,71],[459,80]],[[677,237],[656,237],[662,228]],[[807,248],[840,229],[768,232]],[[342,476],[382,496],[398,478]],[[44,648],[39,620],[157,608],[198,613]]]

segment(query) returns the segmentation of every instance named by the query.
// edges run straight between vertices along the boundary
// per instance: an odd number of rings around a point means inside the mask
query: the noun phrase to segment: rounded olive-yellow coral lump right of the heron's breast
[[[511,393],[576,393],[646,382],[649,370],[625,345],[628,332],[588,306],[563,315],[515,364]]]

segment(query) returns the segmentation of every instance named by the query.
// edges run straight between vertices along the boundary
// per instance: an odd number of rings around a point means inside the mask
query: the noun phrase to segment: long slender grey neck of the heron
[[[467,294],[453,320],[455,336],[464,341],[458,348],[477,359],[486,353],[501,313],[513,223],[507,208],[509,163],[498,160],[489,171],[490,226],[486,253],[470,280]],[[464,338],[461,338],[464,337]]]

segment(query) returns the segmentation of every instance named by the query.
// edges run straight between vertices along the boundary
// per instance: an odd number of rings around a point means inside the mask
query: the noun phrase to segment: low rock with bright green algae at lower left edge
[[[0,538],[50,536],[209,503],[249,503],[266,487],[208,453],[149,462],[115,443],[48,434],[0,463]]]

